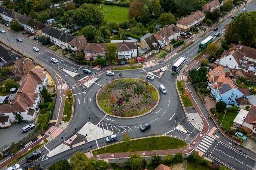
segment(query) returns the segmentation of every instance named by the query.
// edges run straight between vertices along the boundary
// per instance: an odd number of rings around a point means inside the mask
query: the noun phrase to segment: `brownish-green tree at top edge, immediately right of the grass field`
[[[129,19],[132,19],[134,17],[135,19],[138,19],[138,17],[142,16],[144,3],[141,0],[133,0],[129,7]]]

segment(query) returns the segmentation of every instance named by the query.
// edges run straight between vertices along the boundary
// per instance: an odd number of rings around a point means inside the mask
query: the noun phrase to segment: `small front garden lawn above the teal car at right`
[[[224,128],[226,131],[230,130],[230,128],[233,126],[233,121],[236,118],[237,113],[236,112],[227,112],[224,119],[224,113],[217,113],[215,114],[216,118],[218,118],[219,123],[221,123],[222,119],[222,128]]]

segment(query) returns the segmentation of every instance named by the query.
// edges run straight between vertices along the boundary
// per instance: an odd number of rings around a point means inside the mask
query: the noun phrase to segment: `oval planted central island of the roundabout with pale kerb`
[[[97,91],[96,101],[109,116],[134,118],[151,112],[157,106],[159,92],[142,79],[122,78],[104,84]]]

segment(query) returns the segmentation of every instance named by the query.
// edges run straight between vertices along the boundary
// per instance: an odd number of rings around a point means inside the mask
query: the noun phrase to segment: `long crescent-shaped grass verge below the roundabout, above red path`
[[[177,138],[171,138],[169,136],[157,136],[152,138],[130,140],[129,146],[127,146],[126,142],[117,143],[114,145],[94,150],[92,153],[93,155],[98,155],[102,153],[166,150],[184,148],[186,145],[187,143]]]

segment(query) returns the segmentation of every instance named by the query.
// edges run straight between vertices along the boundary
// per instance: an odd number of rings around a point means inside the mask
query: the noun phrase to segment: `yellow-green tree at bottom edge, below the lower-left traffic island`
[[[70,160],[72,170],[94,170],[91,161],[85,153],[77,151]]]

